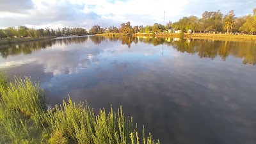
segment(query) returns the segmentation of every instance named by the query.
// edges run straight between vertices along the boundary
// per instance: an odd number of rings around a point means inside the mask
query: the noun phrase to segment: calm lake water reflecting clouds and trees
[[[161,143],[256,143],[256,41],[77,36],[0,45],[54,106],[122,105]]]

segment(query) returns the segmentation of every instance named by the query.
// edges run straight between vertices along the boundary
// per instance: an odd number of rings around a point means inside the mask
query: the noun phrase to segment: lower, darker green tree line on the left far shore
[[[58,29],[33,29],[26,26],[18,26],[18,28],[9,27],[0,29],[0,38],[24,38],[24,37],[41,37],[41,36],[69,36],[69,35],[88,35],[88,31],[84,28],[58,28]]]

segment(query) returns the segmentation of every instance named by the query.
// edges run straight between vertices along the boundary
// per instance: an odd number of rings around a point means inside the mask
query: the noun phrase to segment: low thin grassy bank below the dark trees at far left
[[[12,44],[17,42],[28,42],[28,41],[35,41],[35,40],[46,40],[56,38],[56,36],[44,36],[39,38],[3,38],[0,40],[0,44]]]

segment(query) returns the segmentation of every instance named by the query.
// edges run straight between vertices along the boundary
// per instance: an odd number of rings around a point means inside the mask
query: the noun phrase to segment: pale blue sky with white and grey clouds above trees
[[[166,24],[205,11],[252,14],[255,0],[0,0],[0,28],[102,28]]]

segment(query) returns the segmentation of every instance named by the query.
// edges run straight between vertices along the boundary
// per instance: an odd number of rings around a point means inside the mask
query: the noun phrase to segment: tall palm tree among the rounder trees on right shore
[[[234,10],[228,12],[223,19],[223,28],[227,30],[227,33],[232,34],[232,29],[235,27]]]

